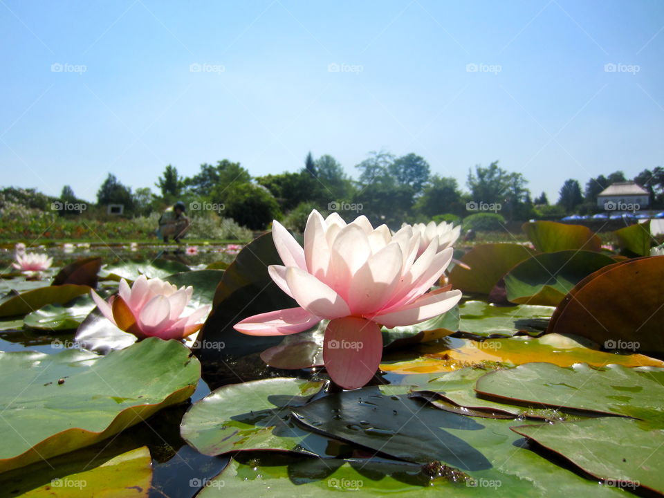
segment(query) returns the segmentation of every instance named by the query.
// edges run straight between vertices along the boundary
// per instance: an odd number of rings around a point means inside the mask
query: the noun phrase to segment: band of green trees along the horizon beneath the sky
[[[121,204],[124,214],[132,216],[183,201],[190,216],[212,212],[253,230],[266,228],[273,219],[301,224],[313,208],[338,210],[345,218],[365,214],[372,223],[390,226],[434,217],[456,221],[478,210],[499,212],[510,221],[598,212],[598,194],[611,183],[627,180],[623,172],[600,175],[591,178],[582,191],[577,180],[568,179],[557,202],[550,204],[544,192],[532,199],[523,174],[508,172],[498,161],[469,169],[467,191],[461,190],[455,178],[432,174],[427,161],[413,153],[395,156],[374,151],[356,169],[358,179],[353,180],[333,156],[314,158],[311,152],[297,172],[255,177],[228,159],[203,163],[193,176],[181,176],[175,166],[167,165],[157,178],[156,192],[147,187],[132,192],[109,173],[97,203]],[[654,205],[664,203],[664,169],[644,169],[634,181],[649,190]],[[80,202],[68,185],[59,199]]]

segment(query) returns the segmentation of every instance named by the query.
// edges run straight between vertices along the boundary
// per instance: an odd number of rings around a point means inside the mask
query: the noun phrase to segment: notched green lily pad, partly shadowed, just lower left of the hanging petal
[[[290,407],[304,404],[323,386],[324,382],[297,378],[225,385],[187,411],[181,425],[182,437],[199,452],[212,456],[243,450],[281,450],[335,457],[338,444],[302,430],[289,418]]]

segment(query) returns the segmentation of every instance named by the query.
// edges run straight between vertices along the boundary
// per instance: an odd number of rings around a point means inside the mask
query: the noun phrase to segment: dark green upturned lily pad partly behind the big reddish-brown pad
[[[517,264],[505,275],[507,299],[519,304],[556,306],[584,277],[616,261],[600,252],[546,252]]]

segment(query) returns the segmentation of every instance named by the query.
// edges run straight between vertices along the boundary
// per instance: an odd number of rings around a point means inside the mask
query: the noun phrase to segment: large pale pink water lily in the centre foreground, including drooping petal
[[[249,335],[286,335],[330,320],[323,361],[330,378],[345,389],[365,385],[382,356],[380,326],[412,325],[450,310],[461,291],[430,288],[452,259],[432,240],[418,257],[421,234],[411,226],[392,235],[374,228],[366,216],[345,223],[333,213],[313,211],[304,230],[304,248],[279,222],[272,236],[284,265],[268,267],[279,288],[299,307],[248,317],[235,324]],[[429,292],[430,291],[430,292]]]

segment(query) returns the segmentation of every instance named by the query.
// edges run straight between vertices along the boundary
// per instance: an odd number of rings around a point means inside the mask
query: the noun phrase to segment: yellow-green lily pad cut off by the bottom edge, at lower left
[[[53,479],[21,495],[26,498],[88,498],[91,496],[145,497],[152,481],[152,459],[147,447],[118,455],[99,467]]]

